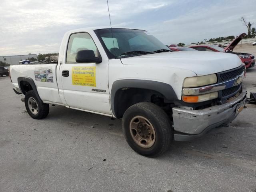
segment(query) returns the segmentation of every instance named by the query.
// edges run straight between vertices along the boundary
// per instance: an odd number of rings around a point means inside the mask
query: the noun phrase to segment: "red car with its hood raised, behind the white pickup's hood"
[[[233,52],[233,49],[235,48],[235,46],[244,38],[244,36],[246,36],[246,34],[242,33],[233,42],[231,42],[226,48],[221,48],[216,45],[194,45],[194,46],[190,46],[190,48],[193,48],[198,51],[216,51],[216,52],[233,53],[238,55],[241,58],[246,68],[251,68],[255,66],[255,57],[252,54]]]

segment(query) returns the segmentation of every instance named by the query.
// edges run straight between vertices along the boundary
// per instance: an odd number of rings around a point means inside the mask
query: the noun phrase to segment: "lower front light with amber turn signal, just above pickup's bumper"
[[[195,95],[195,96],[186,96],[186,95],[182,96],[182,100],[187,103],[198,103],[198,102],[208,101],[216,98],[218,98],[218,92],[212,92],[208,94]]]

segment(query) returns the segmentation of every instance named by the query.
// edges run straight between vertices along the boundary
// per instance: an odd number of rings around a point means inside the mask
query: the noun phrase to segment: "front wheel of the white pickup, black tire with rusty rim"
[[[159,106],[141,102],[130,106],[122,118],[122,128],[130,147],[143,156],[158,156],[168,150],[172,126]]]

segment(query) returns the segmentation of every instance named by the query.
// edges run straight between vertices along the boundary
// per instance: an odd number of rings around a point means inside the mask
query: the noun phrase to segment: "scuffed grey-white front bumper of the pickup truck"
[[[229,124],[246,104],[246,88],[239,95],[230,98],[225,104],[202,110],[172,108],[174,140],[188,141],[198,138],[210,129]]]

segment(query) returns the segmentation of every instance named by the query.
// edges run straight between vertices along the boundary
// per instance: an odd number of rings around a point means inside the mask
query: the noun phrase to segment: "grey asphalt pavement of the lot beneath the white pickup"
[[[256,92],[256,67],[244,84]],[[34,120],[0,78],[0,192],[256,192],[256,105],[231,126],[173,142],[158,158],[136,154],[120,120],[64,106]]]

